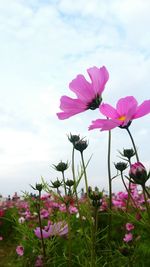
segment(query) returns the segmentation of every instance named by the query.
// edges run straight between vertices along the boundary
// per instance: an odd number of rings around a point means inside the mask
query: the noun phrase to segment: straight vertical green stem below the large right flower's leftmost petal
[[[108,181],[109,181],[109,219],[108,219],[108,240],[111,240],[111,230],[112,230],[112,180],[111,180],[111,167],[110,167],[110,156],[111,156],[111,131],[108,133],[108,156],[107,156],[107,164],[108,164]]]

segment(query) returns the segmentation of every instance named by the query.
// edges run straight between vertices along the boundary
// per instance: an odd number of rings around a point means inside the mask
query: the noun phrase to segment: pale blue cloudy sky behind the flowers
[[[71,162],[67,135],[89,141],[89,185],[108,190],[107,132],[88,131],[98,110],[60,121],[60,97],[75,95],[68,84],[87,69],[106,66],[103,101],[113,106],[133,95],[149,99],[149,0],[0,0],[0,193],[32,191],[30,184],[60,178],[52,164]],[[150,166],[150,116],[130,130],[140,160]],[[111,165],[118,150],[131,148],[127,132],[112,131]],[[76,166],[80,155],[76,153]],[[70,168],[66,177],[71,179]],[[83,181],[81,186],[84,185]],[[113,191],[123,190],[120,178]]]

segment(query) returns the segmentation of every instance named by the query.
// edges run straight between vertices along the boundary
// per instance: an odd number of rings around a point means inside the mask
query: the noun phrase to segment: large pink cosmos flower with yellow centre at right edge
[[[109,104],[101,104],[100,112],[108,119],[97,119],[92,121],[89,130],[100,128],[101,131],[111,130],[116,127],[127,128],[132,120],[138,119],[150,113],[150,100],[144,101],[138,106],[133,96],[121,98],[113,108]]]

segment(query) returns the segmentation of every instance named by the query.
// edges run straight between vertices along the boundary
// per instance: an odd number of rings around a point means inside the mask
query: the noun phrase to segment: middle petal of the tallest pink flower
[[[77,77],[69,84],[69,88],[85,103],[90,102],[95,97],[92,85],[83,75],[77,75]]]

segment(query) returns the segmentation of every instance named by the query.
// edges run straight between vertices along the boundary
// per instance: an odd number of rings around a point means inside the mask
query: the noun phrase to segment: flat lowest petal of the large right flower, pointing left
[[[107,119],[97,119],[92,121],[92,124],[89,126],[89,130],[100,128],[100,131],[111,130],[120,126],[120,122],[107,120]]]

